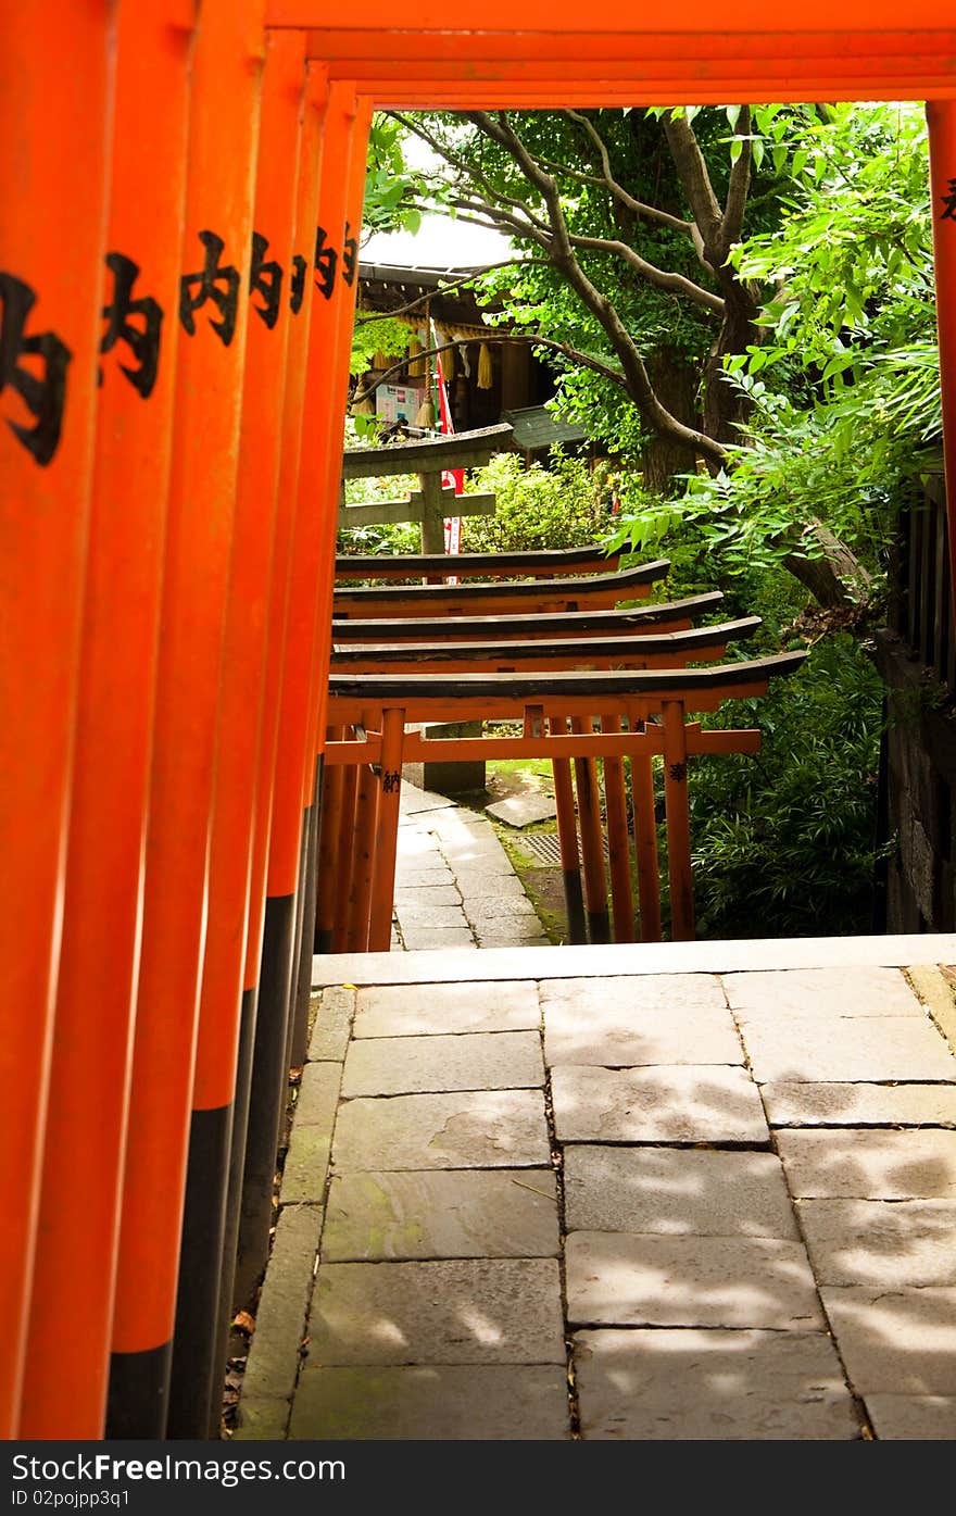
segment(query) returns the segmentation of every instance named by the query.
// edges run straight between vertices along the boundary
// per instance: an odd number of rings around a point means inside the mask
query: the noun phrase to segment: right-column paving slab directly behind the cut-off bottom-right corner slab
[[[956,1289],[820,1293],[861,1395],[956,1395]]]

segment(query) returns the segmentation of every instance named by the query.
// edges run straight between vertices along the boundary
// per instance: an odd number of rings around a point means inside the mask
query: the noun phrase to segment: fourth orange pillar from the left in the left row
[[[218,755],[209,854],[209,925],[203,958],[189,1161],[176,1302],[170,1437],[205,1437],[226,1228],[236,1057],[245,967],[251,834],[262,732],[265,635],[274,593],[273,546],[285,359],[301,315],[305,276],[292,264],[298,136],[306,82],[305,35],[270,32],[262,77],[250,317],[239,470],[226,608]],[[218,1401],[218,1393],[215,1399]]]

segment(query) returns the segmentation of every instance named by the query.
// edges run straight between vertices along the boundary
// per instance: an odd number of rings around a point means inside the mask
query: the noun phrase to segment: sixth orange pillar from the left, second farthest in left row
[[[364,120],[367,124],[368,117]],[[351,299],[351,287],[344,274],[350,270],[350,259],[358,259],[358,240],[355,249],[339,241],[345,229],[348,162],[353,152],[364,164],[365,130],[359,120],[355,89],[336,85],[329,91],[323,141],[315,293],[297,490],[301,525],[295,534],[291,565],[279,702],[268,894],[235,1280],[236,1302],[245,1299],[255,1287],[268,1254],[273,1178],[285,1110],[288,1026],[295,967],[295,908],[301,846],[309,820],[303,808],[303,794],[306,787],[311,790],[314,784],[315,760],[314,750],[309,750],[309,737],[318,699],[315,685],[317,679],[324,679],[327,675],[326,669],[315,667],[314,658],[317,606],[321,600],[321,585],[326,576],[330,578],[333,573],[333,558],[327,555],[321,515],[329,462],[330,343],[336,329],[336,305],[347,297]],[[338,446],[341,450],[341,440]]]

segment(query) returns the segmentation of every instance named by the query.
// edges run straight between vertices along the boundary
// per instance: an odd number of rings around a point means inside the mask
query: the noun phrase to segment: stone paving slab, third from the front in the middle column
[[[564,1195],[568,1231],[798,1239],[771,1152],[571,1146]]]

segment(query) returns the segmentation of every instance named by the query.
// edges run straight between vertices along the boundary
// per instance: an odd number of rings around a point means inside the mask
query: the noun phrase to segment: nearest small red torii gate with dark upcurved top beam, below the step
[[[520,720],[520,738],[459,738],[442,741],[448,758],[468,758],[476,746],[500,756],[544,756],[576,761],[630,758],[644,770],[664,758],[668,826],[671,929],[676,938],[692,937],[694,905],[691,841],[686,802],[686,761],[698,752],[753,750],[759,734],[703,731],[688,726],[688,713],[715,711],[726,700],[764,694],[777,675],[792,673],[806,655],[782,653],[750,662],[711,669],[665,669],[611,673],[503,675],[333,675],[329,691],[332,728],[353,728],[356,740],[330,741],[326,764],[361,766],[355,800],[332,800],[323,817],[326,847],[336,850],[336,891],[344,908],[332,923],[333,949],[386,951],[391,940],[398,796],[403,763],[429,744],[406,734],[409,722]],[[608,725],[595,734],[592,713]],[[571,734],[565,723],[571,720]],[[577,725],[574,725],[577,723]],[[620,723],[615,729],[615,723]],[[626,723],[627,729],[620,728]],[[651,790],[653,793],[653,790]],[[332,791],[335,794],[335,791]],[[580,791],[579,791],[580,794]],[[591,817],[597,819],[595,797]],[[642,817],[638,843],[638,878],[644,925],[659,923],[656,837],[647,793],[635,797]],[[651,843],[653,838],[653,843]],[[653,849],[653,860],[650,857]],[[594,899],[589,910],[595,910]],[[655,937],[658,931],[645,931]],[[627,940],[627,938],[626,938]]]

